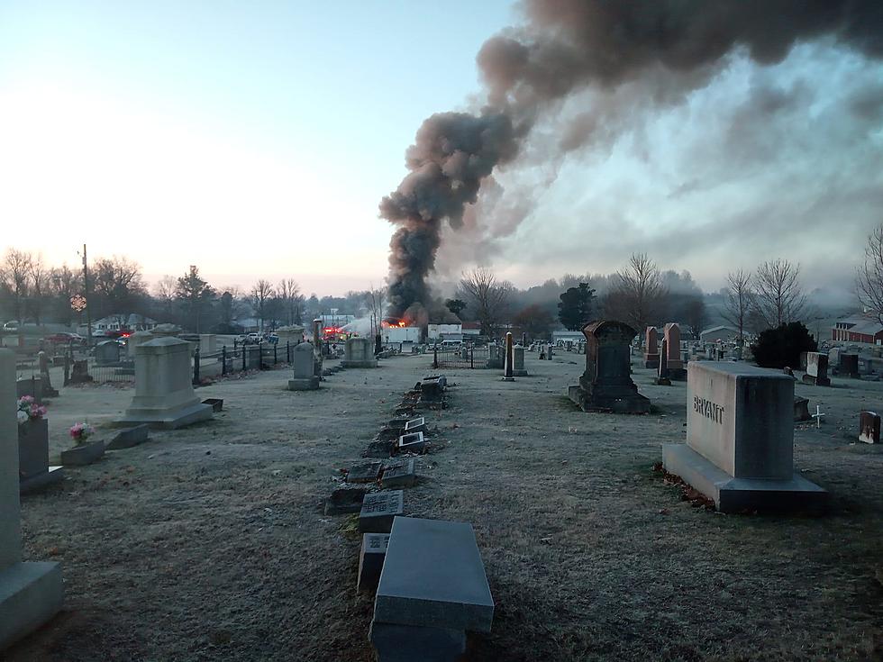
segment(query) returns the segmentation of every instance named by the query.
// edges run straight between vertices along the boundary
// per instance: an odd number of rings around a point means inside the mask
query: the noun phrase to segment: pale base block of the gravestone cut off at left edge
[[[0,571],[0,650],[49,621],[63,597],[58,563],[14,563]]]

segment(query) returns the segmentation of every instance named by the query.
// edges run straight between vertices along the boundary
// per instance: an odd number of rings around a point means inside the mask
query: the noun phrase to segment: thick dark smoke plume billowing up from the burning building
[[[824,36],[883,57],[879,0],[527,0],[524,8],[525,25],[478,52],[486,107],[423,122],[407,152],[411,173],[380,204],[380,215],[398,226],[389,258],[393,314],[428,300],[426,278],[444,222],[460,227],[482,180],[536,143],[538,121],[576,93],[594,90],[595,103],[553,141],[553,159],[614,140],[629,125],[629,107],[677,103],[707,85],[737,50],[769,65],[797,42]],[[775,111],[790,99],[763,101]],[[864,106],[858,112],[871,112]],[[517,225],[524,215],[519,208],[503,224]]]

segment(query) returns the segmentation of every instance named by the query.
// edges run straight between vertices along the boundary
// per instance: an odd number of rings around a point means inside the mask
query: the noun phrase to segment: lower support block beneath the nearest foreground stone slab
[[[378,662],[456,662],[466,651],[466,632],[371,621],[369,639]]]

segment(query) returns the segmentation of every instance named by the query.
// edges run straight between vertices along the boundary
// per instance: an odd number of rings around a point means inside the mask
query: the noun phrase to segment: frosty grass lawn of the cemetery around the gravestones
[[[286,391],[287,370],[216,382],[197,391],[223,398],[213,422],[23,497],[25,558],[62,564],[65,609],[5,659],[373,659],[354,517],[322,505],[431,361],[345,370],[318,392]],[[528,354],[513,383],[447,371],[450,406],[426,414],[434,448],[405,513],[472,522],[496,600],[468,659],[883,657],[883,454],[852,443],[883,383],[796,385],[826,414],[797,425],[795,463],[832,493],[830,515],[721,515],[652,468],[685,438],[686,385],[636,367],[654,413],[581,413],[564,393],[583,361]],[[132,393],[63,389],[50,458],[74,422],[109,440]]]

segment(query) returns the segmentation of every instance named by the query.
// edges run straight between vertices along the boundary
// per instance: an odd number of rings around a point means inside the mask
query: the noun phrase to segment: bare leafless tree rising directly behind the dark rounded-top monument
[[[646,253],[633,253],[629,263],[616,273],[616,283],[605,299],[607,313],[624,319],[639,331],[656,322],[664,302],[666,289],[656,263]]]

